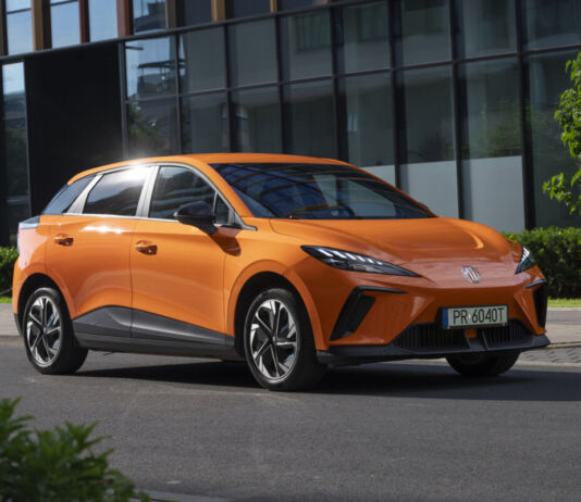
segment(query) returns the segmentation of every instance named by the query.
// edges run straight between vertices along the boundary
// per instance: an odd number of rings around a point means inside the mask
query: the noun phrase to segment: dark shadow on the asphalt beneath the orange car
[[[79,371],[77,376],[195,385],[205,386],[206,390],[230,388],[262,391],[244,363],[195,362],[91,368]],[[465,378],[445,364],[368,364],[330,368],[319,386],[302,394],[581,401],[581,373],[520,365],[494,378]]]

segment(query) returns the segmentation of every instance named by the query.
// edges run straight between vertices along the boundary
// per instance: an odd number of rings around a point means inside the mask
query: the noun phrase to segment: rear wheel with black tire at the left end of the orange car
[[[26,302],[22,329],[24,347],[32,365],[45,375],[76,372],[88,351],[78,347],[69,310],[52,288],[37,289]]]

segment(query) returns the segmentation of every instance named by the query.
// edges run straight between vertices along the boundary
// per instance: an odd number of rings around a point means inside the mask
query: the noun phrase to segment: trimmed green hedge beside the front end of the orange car
[[[505,234],[529,248],[553,298],[581,298],[581,228],[534,228]]]

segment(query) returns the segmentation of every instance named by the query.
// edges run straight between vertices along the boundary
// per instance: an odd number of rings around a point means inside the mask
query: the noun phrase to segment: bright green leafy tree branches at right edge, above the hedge
[[[543,191],[567,205],[571,214],[581,214],[581,52],[567,62],[566,71],[573,86],[560,95],[555,120],[563,129],[560,140],[579,168],[570,179],[563,172],[556,174],[544,183]]]

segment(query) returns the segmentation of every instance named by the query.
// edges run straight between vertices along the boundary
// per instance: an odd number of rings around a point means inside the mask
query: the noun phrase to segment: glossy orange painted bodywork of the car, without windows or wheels
[[[516,275],[520,248],[497,231],[444,217],[256,218],[209,165],[228,162],[346,165],[296,155],[217,153],[144,159],[81,173],[69,183],[127,165],[188,165],[202,172],[244,223],[256,230],[224,227],[208,236],[173,221],[42,215],[37,228],[20,233],[22,249],[26,251],[15,266],[14,313],[18,313],[18,294],[26,278],[45,274],[62,291],[72,318],[100,306],[119,305],[234,336],[234,314],[244,285],[256,274],[269,272],[285,277],[300,294],[319,350],[330,344],[388,343],[410,324],[434,322],[442,306],[507,304],[509,317],[520,319],[536,335],[545,332],[536,321],[533,292],[527,289],[527,285],[543,279],[543,275],[536,266]],[[72,237],[73,244],[55,242],[62,235]],[[138,244],[154,244],[156,252],[140,252],[136,249]],[[305,253],[302,244],[371,255],[405,266],[420,277],[339,271]],[[482,272],[480,284],[465,280],[460,273],[465,265]],[[376,301],[357,331],[330,342],[341,309],[358,286],[394,288],[406,293],[369,292]],[[468,331],[473,335],[473,330]]]

